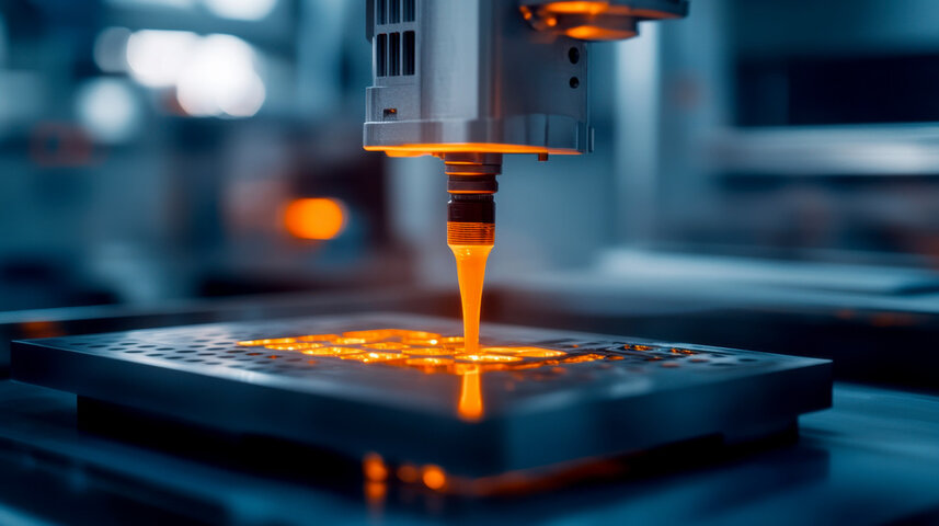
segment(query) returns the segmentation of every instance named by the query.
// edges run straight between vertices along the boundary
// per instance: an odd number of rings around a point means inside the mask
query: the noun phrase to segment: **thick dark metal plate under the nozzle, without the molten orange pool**
[[[69,336],[14,343],[12,374],[227,432],[355,458],[378,451],[466,477],[709,435],[746,441],[831,404],[826,361],[490,325],[484,345],[563,357],[482,369],[482,411],[467,419],[466,375],[237,345],[383,328],[461,332],[450,320],[380,313]]]

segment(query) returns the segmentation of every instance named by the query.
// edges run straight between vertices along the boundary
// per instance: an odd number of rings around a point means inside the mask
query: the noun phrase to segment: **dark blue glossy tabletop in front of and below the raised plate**
[[[934,524],[939,398],[849,384],[835,384],[833,396],[831,410],[800,419],[790,447],[447,511],[413,492],[401,495],[410,505],[389,494],[375,506],[360,494],[81,432],[76,397],[0,381],[0,484],[11,514],[56,524],[180,524],[159,523],[154,510],[253,526]],[[136,513],[114,513],[128,501]]]

